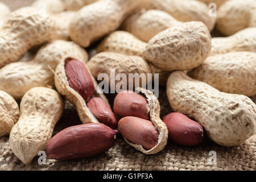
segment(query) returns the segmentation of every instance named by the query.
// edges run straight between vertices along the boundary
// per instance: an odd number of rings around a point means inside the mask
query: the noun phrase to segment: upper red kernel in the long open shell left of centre
[[[84,64],[79,60],[70,59],[65,63],[65,73],[69,86],[76,90],[87,102],[94,93],[94,84]]]

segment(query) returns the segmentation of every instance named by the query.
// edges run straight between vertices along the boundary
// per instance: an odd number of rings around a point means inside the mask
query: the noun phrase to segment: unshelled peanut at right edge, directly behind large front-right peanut
[[[256,95],[256,53],[229,52],[208,57],[188,72],[193,79],[206,82],[221,92]]]

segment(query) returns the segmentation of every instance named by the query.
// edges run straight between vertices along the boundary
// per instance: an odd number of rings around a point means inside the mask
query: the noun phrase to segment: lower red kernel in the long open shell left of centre
[[[117,128],[117,119],[115,118],[114,113],[101,97],[91,98],[87,103],[87,106],[99,122],[104,123],[112,129]]]

